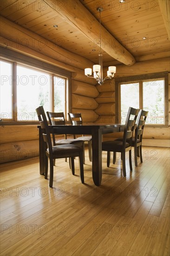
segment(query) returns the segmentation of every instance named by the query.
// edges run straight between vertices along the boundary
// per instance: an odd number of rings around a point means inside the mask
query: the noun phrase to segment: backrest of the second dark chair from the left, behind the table
[[[65,125],[65,114],[64,112],[46,112],[50,125]],[[65,139],[67,135],[65,134]],[[52,134],[53,145],[55,146],[55,135]]]

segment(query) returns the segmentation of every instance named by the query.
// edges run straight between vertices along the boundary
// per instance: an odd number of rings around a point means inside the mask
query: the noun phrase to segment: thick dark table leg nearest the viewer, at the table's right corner
[[[92,177],[96,186],[102,181],[102,131],[92,131]]]

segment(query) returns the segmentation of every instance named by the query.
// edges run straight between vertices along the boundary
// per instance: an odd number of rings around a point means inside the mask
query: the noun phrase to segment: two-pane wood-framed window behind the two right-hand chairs
[[[167,124],[167,73],[157,73],[138,77],[126,77],[122,81],[116,81],[116,95],[119,99],[117,113],[121,115],[124,123],[129,107],[140,108],[149,111],[146,124]],[[117,120],[118,121],[118,120]],[[119,118],[120,121],[120,118]]]

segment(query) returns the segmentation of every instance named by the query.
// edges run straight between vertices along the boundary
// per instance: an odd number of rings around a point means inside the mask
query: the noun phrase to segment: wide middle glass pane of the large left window
[[[50,75],[39,70],[17,65],[17,113],[18,121],[37,120],[35,109],[50,108]]]

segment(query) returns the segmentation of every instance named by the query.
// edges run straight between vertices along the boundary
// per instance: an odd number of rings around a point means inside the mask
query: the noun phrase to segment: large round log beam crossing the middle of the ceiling
[[[48,6],[55,10],[66,22],[76,27],[78,31],[84,34],[89,40],[94,42],[94,47],[99,41],[100,23],[90,13],[79,0],[44,0]],[[61,6],[62,3],[62,6]],[[101,48],[112,58],[131,66],[136,60],[118,40],[116,40],[101,25]]]

